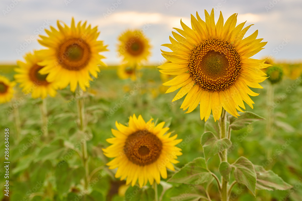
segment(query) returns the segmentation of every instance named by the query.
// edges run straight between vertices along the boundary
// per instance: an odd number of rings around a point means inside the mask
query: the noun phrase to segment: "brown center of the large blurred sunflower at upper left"
[[[81,38],[67,39],[59,45],[57,58],[63,68],[70,71],[79,71],[89,63],[91,49]]]

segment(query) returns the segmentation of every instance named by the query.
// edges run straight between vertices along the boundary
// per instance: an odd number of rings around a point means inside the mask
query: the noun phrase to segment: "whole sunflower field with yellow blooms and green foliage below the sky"
[[[216,10],[179,19],[158,64],[127,29],[107,65],[71,16],[0,65],[0,200],[301,201],[302,63],[254,58],[269,38]]]

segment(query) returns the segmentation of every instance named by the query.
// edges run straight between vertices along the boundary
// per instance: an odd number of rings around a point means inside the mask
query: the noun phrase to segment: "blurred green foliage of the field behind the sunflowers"
[[[5,70],[2,74],[13,80],[13,73]],[[105,165],[106,158],[101,148],[109,143],[105,139],[112,137],[111,128],[115,121],[127,123],[130,115],[142,115],[165,121],[165,126],[174,130],[183,142],[183,155],[178,157],[182,168],[186,163],[203,156],[200,145],[201,134],[204,132],[204,121],[199,116],[199,107],[189,114],[184,114],[180,108],[184,98],[171,102],[175,93],[162,94],[159,87],[162,84],[159,72],[155,66],[142,70],[141,82],[120,80],[111,67],[101,71],[99,78],[91,83],[88,97],[85,99],[85,113],[88,118],[88,155],[89,170],[95,170],[89,184],[87,200],[153,200],[154,190],[150,187],[125,187],[123,181],[114,178],[116,170],[109,170]],[[300,201],[302,197],[302,87],[299,80],[283,80],[275,88],[274,137],[267,140],[265,121],[257,121],[241,130],[233,130],[231,141],[233,145],[228,150],[229,163],[235,162],[240,156],[245,156],[255,165],[271,168],[283,180],[293,186],[287,191],[257,190],[256,197],[243,185],[236,184],[230,200],[252,201],[265,200],[266,194],[271,194],[271,200]],[[255,102],[254,109],[246,105],[247,111],[252,111],[262,117],[266,116],[266,86],[255,89],[259,96],[251,97]],[[128,92],[125,91],[128,88]],[[139,88],[139,90],[136,90]],[[16,87],[17,89],[17,87]],[[24,97],[22,99],[21,97]],[[123,100],[123,104],[121,104]],[[21,120],[21,134],[16,136],[14,124],[14,104],[18,105]],[[48,123],[50,139],[40,135],[40,100],[24,96],[18,88],[17,98],[10,103],[0,105],[0,131],[3,133],[0,150],[4,164],[4,129],[9,128],[9,184],[11,201],[25,200],[84,200],[83,178],[84,167],[79,158],[81,136],[77,132],[76,99],[69,88],[60,90],[55,98],[47,98]],[[116,111],[114,111],[116,110]],[[288,143],[286,143],[288,142]],[[267,149],[272,149],[272,159],[265,158]],[[219,175],[219,159],[214,156],[209,160],[209,169]],[[4,165],[0,167],[0,176],[4,178]],[[168,171],[168,179],[173,175]],[[232,178],[231,178],[232,179]],[[4,187],[4,179],[0,180],[0,188]],[[167,182],[162,179],[159,185],[159,198],[168,200],[203,200],[196,196],[204,188],[203,185],[188,185]],[[125,195],[118,191],[127,189]],[[219,200],[217,186],[210,188],[212,200]],[[123,193],[122,193],[123,194]],[[8,200],[4,193],[0,200]]]

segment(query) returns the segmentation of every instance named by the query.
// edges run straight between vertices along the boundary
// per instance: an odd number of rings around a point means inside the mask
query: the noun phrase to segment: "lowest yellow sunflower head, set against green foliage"
[[[167,169],[174,171],[173,163],[178,163],[177,156],[182,155],[182,149],[176,147],[182,139],[175,140],[177,134],[170,137],[171,132],[165,134],[169,128],[165,122],[156,126],[150,119],[145,122],[140,115],[130,116],[129,126],[115,123],[117,130],[111,129],[113,138],[107,139],[112,145],[103,149],[104,155],[114,158],[107,163],[109,169],[117,169],[115,177],[124,180],[126,185],[134,186],[138,179],[140,187],[150,185],[155,180],[160,182],[160,176],[167,178]]]

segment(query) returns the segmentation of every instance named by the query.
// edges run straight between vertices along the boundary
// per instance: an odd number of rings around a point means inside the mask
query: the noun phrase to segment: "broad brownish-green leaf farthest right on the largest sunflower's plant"
[[[257,189],[258,190],[288,190],[292,188],[290,184],[283,181],[281,177],[271,170],[265,170],[260,165],[255,165],[257,174]]]

